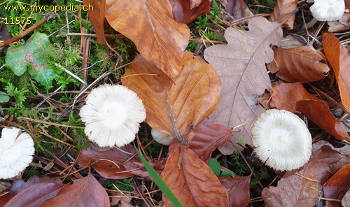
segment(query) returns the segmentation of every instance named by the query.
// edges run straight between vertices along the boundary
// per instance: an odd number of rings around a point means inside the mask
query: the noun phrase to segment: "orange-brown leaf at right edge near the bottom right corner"
[[[323,197],[341,200],[350,187],[350,164],[344,165],[323,185]],[[334,201],[326,201],[332,206],[342,206]]]

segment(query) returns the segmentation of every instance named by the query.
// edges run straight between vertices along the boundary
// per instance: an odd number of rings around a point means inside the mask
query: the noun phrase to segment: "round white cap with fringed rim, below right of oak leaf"
[[[270,109],[251,127],[254,152],[279,171],[291,171],[309,161],[312,140],[306,124],[287,110]]]

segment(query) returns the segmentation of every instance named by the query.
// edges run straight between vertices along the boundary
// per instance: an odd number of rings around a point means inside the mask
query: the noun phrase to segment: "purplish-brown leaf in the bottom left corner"
[[[59,178],[32,176],[27,182],[15,180],[8,194],[0,197],[0,206],[38,206],[55,197],[63,186]]]

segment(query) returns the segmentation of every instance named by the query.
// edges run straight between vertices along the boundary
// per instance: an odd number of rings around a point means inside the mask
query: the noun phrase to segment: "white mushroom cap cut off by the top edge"
[[[318,21],[339,20],[344,14],[344,0],[315,0],[310,7],[312,15]]]

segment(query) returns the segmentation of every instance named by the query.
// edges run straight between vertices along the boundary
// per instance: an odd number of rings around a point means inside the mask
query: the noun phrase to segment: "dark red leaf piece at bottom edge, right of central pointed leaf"
[[[251,176],[219,178],[219,180],[228,190],[230,207],[248,206]]]

